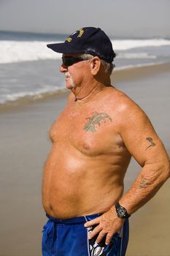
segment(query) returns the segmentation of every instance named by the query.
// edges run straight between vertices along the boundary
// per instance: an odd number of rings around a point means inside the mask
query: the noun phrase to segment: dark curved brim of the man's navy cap
[[[61,42],[57,44],[47,45],[48,48],[54,50],[56,53],[82,53],[82,50],[73,48],[72,45],[66,44],[66,42]]]

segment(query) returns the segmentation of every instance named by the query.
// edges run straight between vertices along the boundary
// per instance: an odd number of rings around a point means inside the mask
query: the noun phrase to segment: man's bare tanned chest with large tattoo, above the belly
[[[63,110],[50,129],[55,144],[76,148],[82,154],[100,155],[123,151],[116,122],[107,110]]]

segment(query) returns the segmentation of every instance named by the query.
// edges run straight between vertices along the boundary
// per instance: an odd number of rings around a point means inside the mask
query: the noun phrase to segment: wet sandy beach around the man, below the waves
[[[170,64],[115,70],[112,85],[147,113],[170,153]],[[68,92],[0,108],[0,256],[40,256],[42,172],[50,151],[48,132],[66,105]],[[125,176],[131,186],[140,166],[132,159]],[[170,256],[169,185],[130,218],[127,256]]]

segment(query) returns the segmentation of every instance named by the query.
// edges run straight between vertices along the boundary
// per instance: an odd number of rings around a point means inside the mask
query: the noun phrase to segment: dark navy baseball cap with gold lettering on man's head
[[[57,53],[88,53],[112,63],[115,52],[107,34],[99,28],[78,29],[66,38],[65,42],[47,45]]]

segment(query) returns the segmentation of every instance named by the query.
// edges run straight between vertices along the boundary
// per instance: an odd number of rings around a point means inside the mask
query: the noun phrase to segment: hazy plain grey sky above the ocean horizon
[[[84,26],[109,36],[170,38],[170,0],[0,0],[3,31],[72,34]]]

